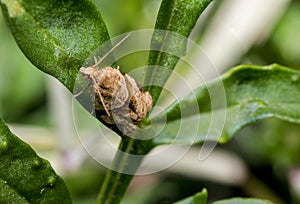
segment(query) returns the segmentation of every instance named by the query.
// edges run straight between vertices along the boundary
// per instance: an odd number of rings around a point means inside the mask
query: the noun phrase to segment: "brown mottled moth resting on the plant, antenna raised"
[[[95,58],[94,65],[81,67],[80,72],[92,86],[97,118],[122,134],[130,135],[152,109],[152,97],[131,76],[120,72],[119,67],[99,69],[103,58],[99,61]]]

